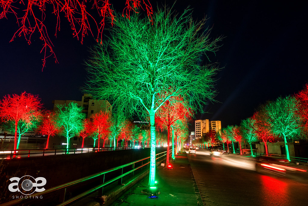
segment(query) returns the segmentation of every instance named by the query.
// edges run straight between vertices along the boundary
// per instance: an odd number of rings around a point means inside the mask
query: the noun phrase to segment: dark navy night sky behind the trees
[[[122,12],[125,1],[116,2]],[[123,2],[122,4],[120,2]],[[150,0],[153,10],[156,2]],[[164,2],[164,1],[161,1]],[[168,3],[169,2],[169,3]],[[279,96],[292,95],[308,82],[307,13],[302,1],[177,1],[174,8],[182,12],[189,4],[193,17],[207,15],[211,37],[224,36],[212,62],[219,62],[215,100],[205,106],[205,114],[195,119],[221,120],[222,126],[240,124],[253,115],[258,105]],[[304,2],[304,1],[303,1]],[[166,1],[172,5],[173,1]],[[158,3],[161,5],[161,3]],[[1,11],[1,10],[0,10]],[[65,19],[55,33],[54,16],[47,13],[46,25],[59,64],[47,59],[42,72],[42,42],[32,36],[28,45],[23,37],[10,42],[18,29],[14,15],[0,19],[0,96],[23,91],[39,95],[44,107],[52,109],[52,100],[80,101],[86,72],[84,60],[95,44],[87,36],[83,44],[72,37]],[[193,127],[194,125],[192,125]]]

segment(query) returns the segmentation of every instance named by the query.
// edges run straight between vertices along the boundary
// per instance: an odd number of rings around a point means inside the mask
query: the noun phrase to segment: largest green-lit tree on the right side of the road
[[[286,158],[290,161],[288,141],[294,141],[301,131],[301,117],[296,114],[297,100],[293,96],[279,97],[265,105],[266,121],[274,134],[284,139]]]

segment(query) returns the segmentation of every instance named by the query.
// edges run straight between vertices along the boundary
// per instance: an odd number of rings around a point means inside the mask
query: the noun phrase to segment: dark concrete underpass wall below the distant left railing
[[[156,148],[156,153],[166,151]],[[150,155],[150,148],[5,160],[9,177],[30,175],[47,180],[45,189],[80,179]]]

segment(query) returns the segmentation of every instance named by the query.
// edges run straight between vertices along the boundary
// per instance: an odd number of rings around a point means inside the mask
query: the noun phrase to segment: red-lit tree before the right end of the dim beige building
[[[95,132],[98,135],[98,151],[99,151],[100,138],[103,137],[104,140],[103,147],[104,147],[107,135],[110,131],[109,130],[111,126],[110,114],[107,112],[99,111],[98,113],[93,114],[91,118],[92,118],[93,132]]]

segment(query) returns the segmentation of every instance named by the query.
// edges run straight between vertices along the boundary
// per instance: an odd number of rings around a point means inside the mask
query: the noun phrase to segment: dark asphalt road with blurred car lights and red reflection
[[[188,152],[188,151],[187,151]],[[307,205],[307,173],[296,177],[262,170],[238,155],[211,157],[197,149],[188,159],[204,205]]]

